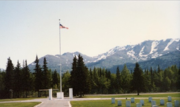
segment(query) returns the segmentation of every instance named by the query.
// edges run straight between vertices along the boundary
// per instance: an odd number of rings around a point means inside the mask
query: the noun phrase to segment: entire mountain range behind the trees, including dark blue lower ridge
[[[45,55],[47,66],[52,71],[60,69],[60,60],[62,71],[71,71],[71,65],[74,56],[81,56],[88,68],[101,67],[115,72],[117,66],[120,69],[124,64],[129,70],[134,69],[135,62],[139,62],[142,69],[154,69],[159,65],[161,69],[165,69],[171,65],[180,66],[180,38],[166,40],[147,40],[136,45],[116,46],[109,51],[95,57],[89,57],[80,52],[67,52],[60,55]],[[43,65],[43,58],[39,58],[40,65]],[[28,65],[33,71],[35,63]]]

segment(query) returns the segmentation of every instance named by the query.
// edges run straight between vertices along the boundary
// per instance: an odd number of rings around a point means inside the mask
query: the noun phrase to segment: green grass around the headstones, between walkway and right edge
[[[166,107],[167,99],[164,99],[164,100],[165,100],[165,105],[160,106],[160,100],[155,99],[156,105],[160,107]],[[173,107],[174,107],[174,100],[177,100],[177,99],[176,98],[172,99]],[[122,101],[121,107],[125,107],[126,100],[124,99],[121,101]],[[117,106],[118,100],[116,100],[115,102],[116,102],[115,104],[111,104],[111,100],[71,101],[71,105],[72,107],[118,107]],[[139,102],[140,102],[140,99],[135,99],[135,103],[131,103],[131,107],[136,107],[136,103],[139,103]],[[151,107],[151,103],[148,102],[148,99],[145,99],[144,103],[145,105],[143,107]]]

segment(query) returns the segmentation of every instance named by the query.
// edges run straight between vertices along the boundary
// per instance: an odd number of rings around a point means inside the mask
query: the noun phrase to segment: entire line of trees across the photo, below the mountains
[[[46,58],[40,66],[36,56],[34,72],[30,72],[27,61],[21,67],[19,61],[14,67],[10,58],[7,61],[5,72],[0,71],[0,98],[34,97],[34,93],[41,97],[40,89],[59,89],[59,73],[47,67]],[[180,91],[180,69],[173,65],[162,70],[142,70],[138,63],[134,71],[130,72],[126,64],[123,69],[118,67],[113,74],[107,69],[88,69],[83,57],[73,58],[72,71],[62,75],[62,89],[65,95],[69,88],[73,88],[74,96],[82,97],[84,94],[120,94],[140,92],[166,92]],[[13,93],[13,94],[12,94]],[[35,96],[35,97],[37,97]]]

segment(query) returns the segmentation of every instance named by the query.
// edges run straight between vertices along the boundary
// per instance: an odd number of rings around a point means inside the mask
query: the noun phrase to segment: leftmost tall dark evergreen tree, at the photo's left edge
[[[5,75],[5,90],[7,96],[9,97],[9,91],[13,89],[13,77],[14,77],[14,66],[10,58],[8,58],[7,67],[6,67],[6,75]]]

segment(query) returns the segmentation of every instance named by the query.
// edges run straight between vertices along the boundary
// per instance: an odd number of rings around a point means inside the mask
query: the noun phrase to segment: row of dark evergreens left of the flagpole
[[[59,87],[59,74],[48,69],[46,58],[42,67],[37,56],[34,63],[34,72],[30,72],[27,61],[23,66],[18,61],[14,67],[8,58],[6,70],[0,71],[0,98],[40,97],[40,89]]]

